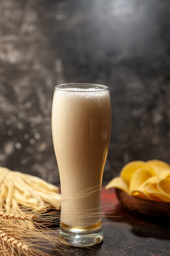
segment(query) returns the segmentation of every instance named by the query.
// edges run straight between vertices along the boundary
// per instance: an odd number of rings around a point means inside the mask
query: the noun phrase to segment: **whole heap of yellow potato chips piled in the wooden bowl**
[[[170,165],[156,159],[130,162],[106,189],[111,187],[138,198],[170,202]]]

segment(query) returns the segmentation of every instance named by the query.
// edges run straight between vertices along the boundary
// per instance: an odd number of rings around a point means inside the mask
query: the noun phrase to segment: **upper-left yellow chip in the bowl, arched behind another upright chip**
[[[122,179],[129,185],[132,174],[139,168],[145,168],[147,164],[143,161],[133,161],[126,164],[120,172]]]

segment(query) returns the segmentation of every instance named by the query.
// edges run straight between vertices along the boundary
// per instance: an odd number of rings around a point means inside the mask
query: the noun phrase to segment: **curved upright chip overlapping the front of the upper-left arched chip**
[[[139,186],[144,183],[148,178],[155,175],[155,172],[149,166],[137,169],[131,177],[129,191],[137,190]]]

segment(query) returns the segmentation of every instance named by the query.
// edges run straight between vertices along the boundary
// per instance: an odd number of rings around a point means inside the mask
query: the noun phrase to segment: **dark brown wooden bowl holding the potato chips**
[[[116,189],[116,194],[128,211],[138,216],[170,222],[170,203],[137,198],[119,189]]]

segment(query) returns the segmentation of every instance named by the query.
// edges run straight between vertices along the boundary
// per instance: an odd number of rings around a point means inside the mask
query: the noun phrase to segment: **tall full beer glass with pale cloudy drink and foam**
[[[55,87],[52,133],[60,173],[60,240],[91,246],[103,240],[100,189],[111,130],[109,89],[97,84]]]

